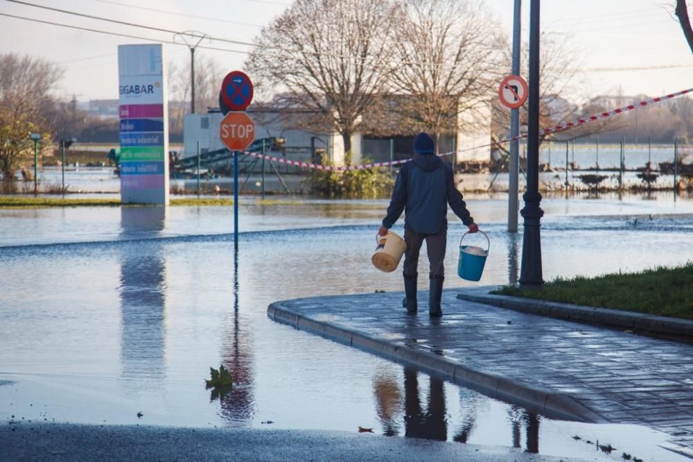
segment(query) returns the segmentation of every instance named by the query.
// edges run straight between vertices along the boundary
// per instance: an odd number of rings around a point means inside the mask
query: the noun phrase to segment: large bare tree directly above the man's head
[[[403,65],[391,77],[394,91],[408,96],[397,110],[410,130],[439,139],[457,131],[462,112],[488,123],[479,110],[488,107],[502,68],[499,30],[482,1],[403,1],[394,43]]]

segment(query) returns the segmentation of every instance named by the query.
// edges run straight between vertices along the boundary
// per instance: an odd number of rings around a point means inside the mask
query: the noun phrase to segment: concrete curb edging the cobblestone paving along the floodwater
[[[337,323],[317,320],[286,307],[285,303],[288,301],[290,300],[272,303],[267,307],[267,316],[278,323],[295,327],[297,330],[311,332],[386,359],[419,367],[451,382],[475,388],[490,397],[518,402],[547,416],[590,423],[608,422],[570,395],[554,393],[546,388],[512,380],[502,375],[486,373],[483,370],[465,366],[455,359],[417,350],[404,343],[381,339]]]

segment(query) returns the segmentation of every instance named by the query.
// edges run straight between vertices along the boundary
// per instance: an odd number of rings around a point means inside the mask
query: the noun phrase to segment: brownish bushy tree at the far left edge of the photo
[[[42,109],[51,103],[49,92],[63,69],[51,62],[14,53],[0,55],[0,171],[3,181],[15,180],[15,171],[31,159],[31,132],[40,132],[42,144],[51,139]]]

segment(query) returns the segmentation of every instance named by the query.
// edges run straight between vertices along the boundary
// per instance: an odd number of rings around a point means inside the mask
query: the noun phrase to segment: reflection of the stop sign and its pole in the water
[[[255,412],[253,395],[253,370],[252,370],[252,345],[251,332],[240,323],[239,297],[240,284],[238,283],[238,247],[234,251],[234,319],[233,332],[230,334],[230,342],[222,345],[222,363],[231,373],[234,386],[231,393],[220,397],[222,417],[228,422],[244,423],[252,420]],[[229,336],[227,336],[228,338]]]

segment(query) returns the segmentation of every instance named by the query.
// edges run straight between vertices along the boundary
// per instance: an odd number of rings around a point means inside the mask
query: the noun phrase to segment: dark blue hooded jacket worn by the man
[[[453,169],[437,155],[421,153],[400,169],[383,226],[392,228],[405,212],[405,228],[421,234],[443,232],[448,229],[448,203],[462,223],[474,222],[455,188]]]

